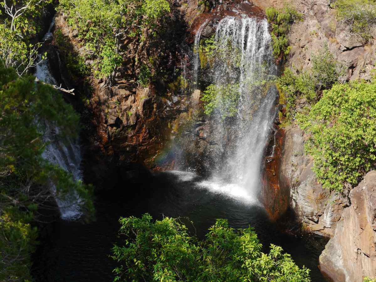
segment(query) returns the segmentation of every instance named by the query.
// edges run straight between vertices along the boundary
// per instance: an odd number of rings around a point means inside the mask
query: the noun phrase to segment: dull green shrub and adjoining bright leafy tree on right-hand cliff
[[[312,55],[310,71],[290,69],[278,80],[280,103],[286,105],[288,122],[297,121],[309,134],[306,153],[314,158],[313,170],[324,188],[343,191],[356,185],[375,167],[375,80],[340,83],[344,67],[327,44]],[[296,112],[296,101],[308,107]]]

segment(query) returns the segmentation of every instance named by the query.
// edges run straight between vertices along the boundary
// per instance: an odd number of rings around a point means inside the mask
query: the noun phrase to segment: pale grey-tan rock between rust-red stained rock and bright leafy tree
[[[324,236],[332,236],[348,205],[347,197],[323,190],[312,171],[311,156],[304,155],[305,135],[299,127],[285,132],[280,164],[281,190],[290,191],[290,205],[303,229]]]

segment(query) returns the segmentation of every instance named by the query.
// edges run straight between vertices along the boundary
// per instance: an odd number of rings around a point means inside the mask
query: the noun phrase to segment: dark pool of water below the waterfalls
[[[323,249],[321,237],[282,234],[268,221],[260,206],[197,186],[197,179],[191,178],[161,173],[144,185],[124,184],[116,192],[97,196],[96,221],[89,224],[63,220],[54,223],[50,240],[39,247],[34,258],[35,279],[112,281],[112,270],[117,264],[109,255],[113,244],[118,242],[118,218],[149,212],[155,219],[188,217],[194,226],[187,226],[199,237],[205,235],[216,218],[227,218],[234,228],[250,225],[258,233],[265,251],[270,243],[282,246],[298,265],[312,270],[312,281],[324,281],[317,268]]]

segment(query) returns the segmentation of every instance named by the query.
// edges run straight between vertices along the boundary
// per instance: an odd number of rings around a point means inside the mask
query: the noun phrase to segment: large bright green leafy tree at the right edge
[[[335,84],[297,120],[311,134],[306,152],[313,156],[313,170],[324,188],[342,191],[344,184],[358,184],[375,168],[375,79]]]

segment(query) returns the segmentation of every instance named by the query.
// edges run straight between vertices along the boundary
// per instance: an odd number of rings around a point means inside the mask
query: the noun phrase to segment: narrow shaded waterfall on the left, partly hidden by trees
[[[48,32],[44,35],[43,41],[52,37],[53,20]],[[41,55],[39,55],[41,60]],[[34,75],[41,81],[56,85],[56,80],[49,70],[47,60],[42,61],[35,67]],[[43,140],[47,143],[42,157],[52,164],[59,165],[65,171],[72,174],[74,180],[82,180],[80,171],[81,152],[78,140],[68,140],[62,142],[58,139],[59,128],[52,124],[44,124]],[[56,203],[59,207],[61,218],[64,220],[75,220],[82,215],[80,211],[81,199],[76,195],[67,195],[64,198],[56,195],[56,187],[51,183],[50,190],[55,196]]]

